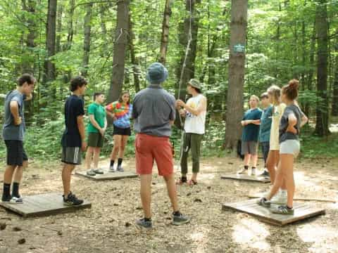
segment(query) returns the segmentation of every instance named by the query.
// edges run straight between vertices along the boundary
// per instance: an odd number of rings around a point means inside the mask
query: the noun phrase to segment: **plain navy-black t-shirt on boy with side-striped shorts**
[[[84,103],[76,95],[65,100],[65,131],[61,144],[63,147],[81,147],[81,136],[77,127],[77,117],[84,115]]]

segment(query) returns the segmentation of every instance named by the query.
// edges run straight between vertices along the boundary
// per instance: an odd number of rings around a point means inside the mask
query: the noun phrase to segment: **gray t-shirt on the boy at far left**
[[[18,90],[11,91],[7,94],[5,98],[5,122],[2,129],[2,137],[4,140],[15,140],[15,141],[24,141],[25,137],[25,117],[24,117],[24,96]],[[18,102],[19,106],[19,117],[21,117],[22,122],[20,125],[15,126],[14,117],[11,113],[10,104],[11,101]]]

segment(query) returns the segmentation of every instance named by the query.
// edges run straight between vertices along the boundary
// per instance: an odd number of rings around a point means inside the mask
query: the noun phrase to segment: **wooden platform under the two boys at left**
[[[26,218],[75,212],[77,209],[90,208],[92,204],[84,200],[84,203],[80,206],[68,207],[63,205],[61,193],[47,193],[23,197],[23,204],[13,205],[0,202],[0,206]]]

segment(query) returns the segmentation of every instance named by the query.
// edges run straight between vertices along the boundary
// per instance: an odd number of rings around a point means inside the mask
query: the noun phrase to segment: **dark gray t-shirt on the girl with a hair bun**
[[[289,125],[289,115],[294,114],[297,119],[297,123],[294,126],[297,130],[297,134],[287,132],[287,126]],[[298,140],[299,130],[301,129],[301,117],[303,112],[297,105],[288,105],[282,117],[280,118],[280,143],[287,140]]]

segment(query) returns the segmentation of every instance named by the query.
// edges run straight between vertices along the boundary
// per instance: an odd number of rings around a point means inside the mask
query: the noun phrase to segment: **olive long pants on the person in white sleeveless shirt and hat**
[[[187,134],[184,133],[183,145],[181,150],[181,173],[188,173],[188,153],[192,150],[192,172],[199,173],[199,157],[201,154],[201,141],[203,134]]]

